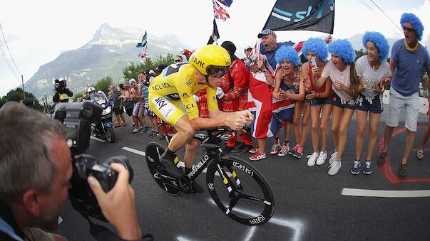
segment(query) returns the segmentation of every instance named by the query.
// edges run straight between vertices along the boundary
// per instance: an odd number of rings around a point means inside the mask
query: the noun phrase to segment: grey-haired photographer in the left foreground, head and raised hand
[[[65,240],[36,228],[56,230],[61,207],[72,188],[71,151],[63,126],[17,103],[4,105],[0,119],[0,240]],[[108,193],[96,178],[88,177],[88,183],[119,236],[138,240],[142,232],[129,173],[121,164],[111,168],[118,172],[118,179]],[[118,237],[112,233],[107,240]]]

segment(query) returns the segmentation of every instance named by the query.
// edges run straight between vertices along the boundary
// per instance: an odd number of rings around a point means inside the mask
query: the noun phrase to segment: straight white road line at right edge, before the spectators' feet
[[[343,188],[344,196],[379,197],[379,198],[424,198],[430,197],[430,190],[389,191]]]

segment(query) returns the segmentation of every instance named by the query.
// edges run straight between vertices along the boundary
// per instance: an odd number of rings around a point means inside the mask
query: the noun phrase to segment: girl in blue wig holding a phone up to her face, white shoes
[[[319,88],[316,87],[315,81],[317,81],[321,76],[324,65],[327,63],[327,45],[320,38],[309,38],[304,42],[302,51],[303,55],[307,56],[308,60],[302,65],[302,77],[304,80],[304,86],[307,89],[306,99],[307,105],[310,107],[310,119],[312,122],[311,138],[313,153],[307,160],[307,166],[314,166],[315,164],[322,165],[327,159],[327,143],[329,140],[328,126],[330,114],[332,114],[332,105],[330,105],[330,99],[328,97],[333,95],[333,90],[332,80],[330,80],[330,78],[327,78],[325,84]],[[314,77],[314,74],[316,77]],[[321,124],[319,124],[320,113],[322,113]],[[304,117],[305,116],[306,114]],[[321,151],[318,151],[318,130],[321,131],[322,136]],[[304,141],[302,140],[299,145],[300,146],[295,152],[303,152],[302,148],[304,146]],[[297,156],[294,152],[294,148],[292,152],[293,156]]]

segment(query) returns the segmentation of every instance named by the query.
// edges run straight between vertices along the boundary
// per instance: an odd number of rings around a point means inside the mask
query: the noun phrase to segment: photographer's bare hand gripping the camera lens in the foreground
[[[128,170],[121,164],[111,164],[111,168],[118,172],[118,179],[108,193],[103,191],[93,176],[88,177],[88,183],[103,215],[116,227],[120,237],[125,240],[138,240],[142,238],[142,231],[135,211],[134,191],[128,183]]]

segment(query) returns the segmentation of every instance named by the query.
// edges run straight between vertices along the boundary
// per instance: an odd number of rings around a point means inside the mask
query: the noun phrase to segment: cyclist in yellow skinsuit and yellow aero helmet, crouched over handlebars
[[[252,114],[240,112],[221,112],[218,110],[216,87],[230,68],[230,55],[218,45],[205,45],[190,56],[190,64],[169,65],[155,77],[149,86],[149,107],[158,117],[172,124],[178,131],[161,156],[160,162],[173,176],[183,176],[183,172],[173,162],[179,151],[185,146],[185,173],[191,171],[195,153],[199,146],[193,136],[201,128],[227,126],[239,130],[252,122]],[[209,119],[198,115],[198,106],[193,94],[206,90]],[[195,192],[203,188],[193,183]],[[196,190],[197,189],[197,190]]]

